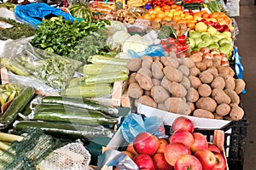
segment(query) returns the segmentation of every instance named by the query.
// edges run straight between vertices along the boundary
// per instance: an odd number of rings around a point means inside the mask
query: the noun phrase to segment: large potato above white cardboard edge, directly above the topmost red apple
[[[189,105],[181,98],[168,98],[165,101],[167,111],[172,113],[189,115],[191,113]]]

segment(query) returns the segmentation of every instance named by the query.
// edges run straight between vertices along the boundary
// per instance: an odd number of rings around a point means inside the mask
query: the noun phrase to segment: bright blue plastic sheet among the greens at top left
[[[75,20],[71,14],[66,14],[61,8],[54,8],[46,3],[29,3],[26,5],[17,5],[15,8],[15,17],[17,20],[25,22],[33,27],[38,27],[48,14],[62,16],[65,20]]]

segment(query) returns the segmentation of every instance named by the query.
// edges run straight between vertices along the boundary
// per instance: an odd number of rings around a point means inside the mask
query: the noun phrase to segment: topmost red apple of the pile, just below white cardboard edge
[[[189,118],[184,116],[177,117],[177,119],[172,122],[172,130],[175,132],[177,130],[187,130],[190,133],[194,132],[194,125]]]

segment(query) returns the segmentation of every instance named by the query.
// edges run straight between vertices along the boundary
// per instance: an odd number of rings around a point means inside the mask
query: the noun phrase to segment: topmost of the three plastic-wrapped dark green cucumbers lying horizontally
[[[69,105],[73,107],[79,107],[84,109],[90,109],[94,111],[101,111],[109,115],[116,115],[119,113],[119,110],[113,106],[103,105],[99,102],[96,102],[92,99],[87,98],[73,98],[66,96],[45,96],[41,99],[43,104],[61,104]]]

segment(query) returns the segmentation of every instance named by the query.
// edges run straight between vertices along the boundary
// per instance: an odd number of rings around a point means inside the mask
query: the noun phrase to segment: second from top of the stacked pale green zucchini
[[[84,75],[92,76],[92,75],[99,75],[99,74],[105,74],[109,72],[123,72],[125,74],[129,74],[129,70],[124,65],[102,65],[102,64],[90,64],[90,65],[84,65],[83,67],[83,73]]]

